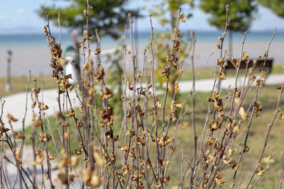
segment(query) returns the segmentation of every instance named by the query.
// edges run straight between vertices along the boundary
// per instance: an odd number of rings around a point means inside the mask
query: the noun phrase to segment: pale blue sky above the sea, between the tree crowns
[[[39,18],[36,10],[41,4],[55,4],[58,6],[65,6],[66,1],[51,1],[51,0],[0,0],[0,33],[40,33],[45,25],[45,20]],[[148,0],[146,3],[140,0],[129,1],[128,5],[131,8],[142,8],[145,4],[151,4]],[[157,2],[157,1],[155,1]],[[187,13],[186,10],[183,10]],[[193,30],[216,30],[207,23],[208,15],[202,13],[198,8],[190,10],[193,13],[192,18],[188,19],[187,23],[183,25],[185,29]],[[140,30],[148,30],[148,13],[144,11],[146,18],[142,18],[138,23]],[[154,18],[155,19],[155,18]],[[157,22],[154,21],[155,27],[158,27]],[[284,18],[279,18],[268,8],[260,7],[258,10],[258,17],[253,21],[251,30],[284,30]]]

